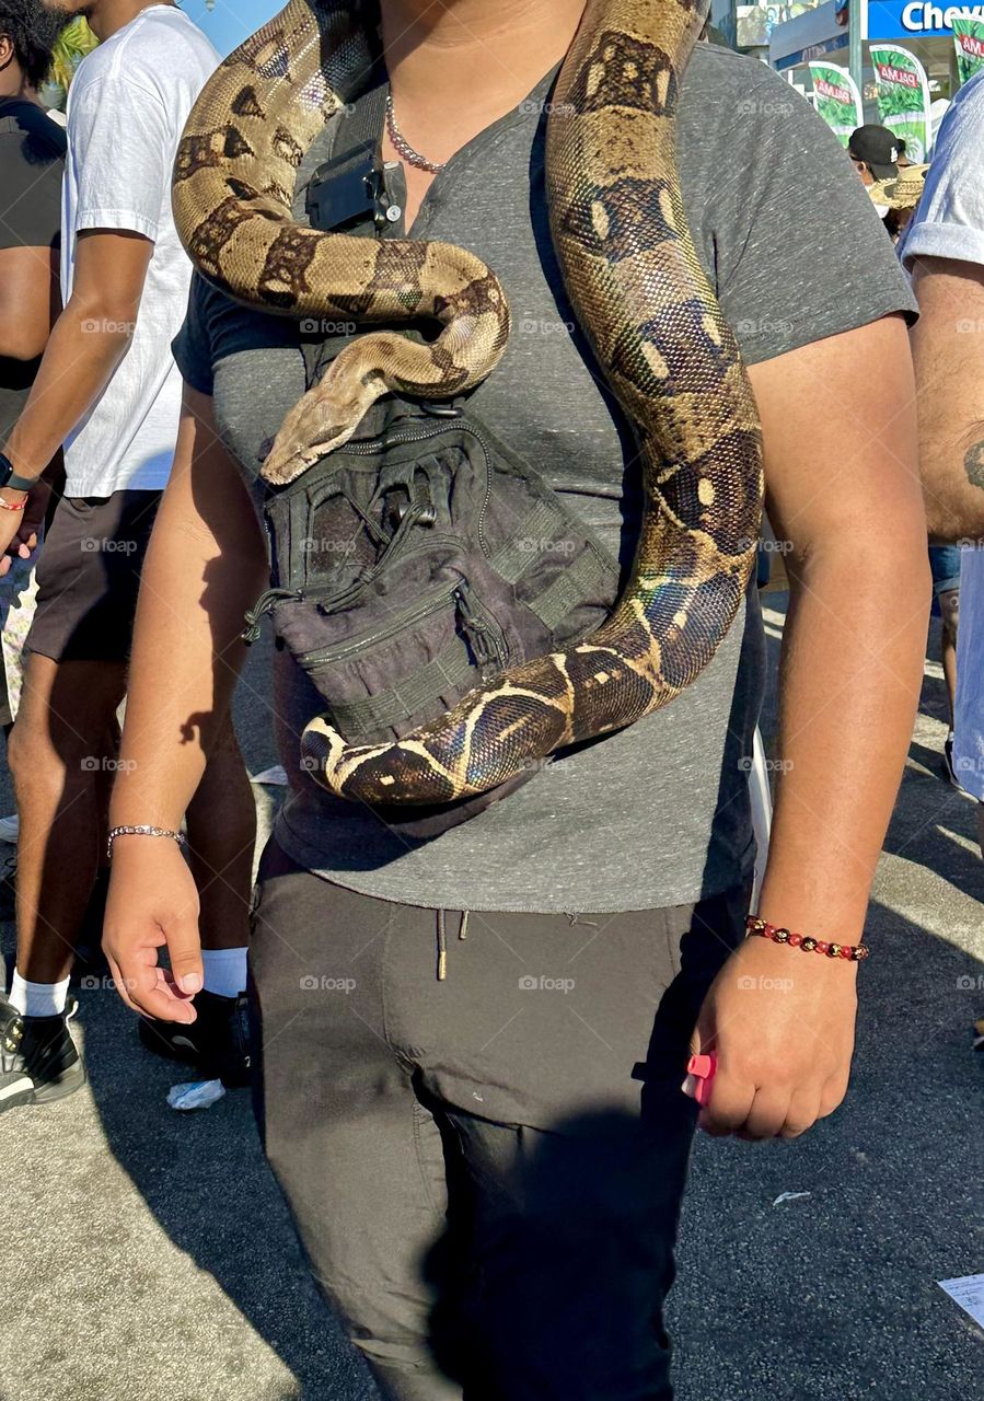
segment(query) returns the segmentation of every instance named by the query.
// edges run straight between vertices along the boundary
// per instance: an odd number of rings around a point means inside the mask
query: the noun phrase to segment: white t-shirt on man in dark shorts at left
[[[154,254],[129,350],[64,446],[69,496],[167,485],[181,412],[171,340],[188,304],[191,263],[171,214],[171,170],[188,113],[219,55],[174,6],[143,10],[83,60],[69,94],[62,209],[62,293],[77,235],[125,228]]]

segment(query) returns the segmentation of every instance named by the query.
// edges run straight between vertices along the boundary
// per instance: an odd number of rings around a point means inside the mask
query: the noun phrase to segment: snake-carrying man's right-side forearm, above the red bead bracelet
[[[793,586],[760,912],[858,943],[920,699],[925,548],[838,546]],[[855,542],[856,546],[856,542]]]

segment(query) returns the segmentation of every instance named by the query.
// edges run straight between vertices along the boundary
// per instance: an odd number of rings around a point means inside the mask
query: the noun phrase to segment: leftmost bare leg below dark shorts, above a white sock
[[[107,839],[125,678],[115,661],[28,660],[7,752],[21,820],[17,971],[31,982],[71,971]]]

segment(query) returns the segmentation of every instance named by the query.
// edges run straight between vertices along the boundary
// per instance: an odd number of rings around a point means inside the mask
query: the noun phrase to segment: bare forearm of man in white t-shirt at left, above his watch
[[[39,476],[88,413],[126,354],[133,324],[69,301],[50,333],[31,396],[0,450],[21,476]]]

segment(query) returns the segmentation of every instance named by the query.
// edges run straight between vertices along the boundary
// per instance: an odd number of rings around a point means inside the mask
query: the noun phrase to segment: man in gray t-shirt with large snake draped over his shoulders
[[[276,657],[292,787],[251,951],[259,1119],[387,1397],[670,1397],[662,1303],[695,1124],[795,1138],[847,1091],[925,637],[913,301],[834,137],[765,67],[695,43],[701,24],[677,0],[296,0],[206,90],[177,167],[199,276],[105,933],[136,1010],[195,1017],[198,904],[171,836],[269,581],[268,483],[303,482],[387,389],[453,392],[622,565],[615,622],[371,752],[311,724],[324,702]],[[299,228],[380,81],[371,146],[399,192],[383,237]],[[401,307],[432,326],[409,349],[377,331]],[[325,318],[359,335],[320,378]],[[760,427],[791,609],[747,930]],[[671,590],[687,601],[667,612]],[[376,803],[524,766],[429,838]],[[716,1056],[699,1110],[691,1051]]]

